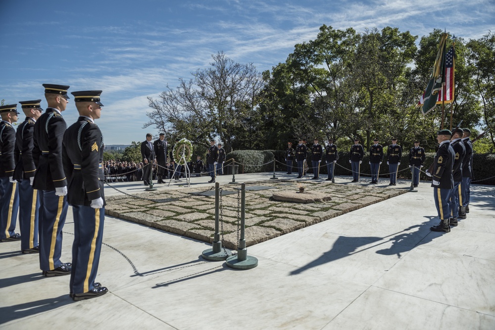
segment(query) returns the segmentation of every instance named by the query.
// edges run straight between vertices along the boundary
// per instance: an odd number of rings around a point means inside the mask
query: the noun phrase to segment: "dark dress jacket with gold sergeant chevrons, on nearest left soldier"
[[[69,185],[70,205],[91,206],[93,199],[103,198],[103,137],[99,127],[88,117],[80,116],[63,136],[62,157]]]

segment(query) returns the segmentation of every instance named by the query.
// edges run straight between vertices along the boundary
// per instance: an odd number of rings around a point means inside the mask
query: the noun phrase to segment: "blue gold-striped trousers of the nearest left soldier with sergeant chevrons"
[[[99,254],[103,239],[105,208],[72,205],[74,214],[74,243],[70,292],[84,293],[94,288],[98,273]]]

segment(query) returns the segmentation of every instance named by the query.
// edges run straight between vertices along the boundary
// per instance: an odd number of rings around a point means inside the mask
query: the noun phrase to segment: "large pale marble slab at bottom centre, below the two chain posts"
[[[248,271],[209,263],[164,274],[115,294],[181,330],[196,330],[198,325],[202,329],[321,329],[367,288],[323,274],[288,276],[292,270],[264,259]],[[200,294],[188,294],[198,288]],[[319,298],[308,299],[312,296]],[[242,308],[232,310],[232,306]],[[225,308],[232,313],[228,320],[242,324],[212,317]]]

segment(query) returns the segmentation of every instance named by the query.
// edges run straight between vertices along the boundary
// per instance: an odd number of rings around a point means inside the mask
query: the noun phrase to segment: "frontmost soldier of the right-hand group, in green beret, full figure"
[[[433,160],[433,173],[426,172],[433,179],[433,196],[435,198],[438,217],[440,218],[440,224],[430,228],[434,232],[450,232],[448,220],[451,210],[448,204],[448,198],[454,188],[452,168],[455,158],[454,149],[450,146],[451,135],[452,133],[449,130],[440,130],[437,132],[437,141],[440,143],[440,146]]]

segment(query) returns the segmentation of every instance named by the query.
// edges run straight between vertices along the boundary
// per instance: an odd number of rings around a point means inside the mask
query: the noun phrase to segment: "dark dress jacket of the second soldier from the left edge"
[[[34,177],[36,165],[33,159],[33,131],[35,121],[27,117],[15,133],[16,150],[19,153],[14,170],[14,179],[22,180]]]

